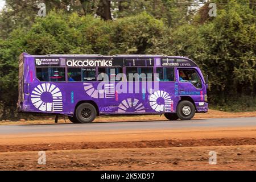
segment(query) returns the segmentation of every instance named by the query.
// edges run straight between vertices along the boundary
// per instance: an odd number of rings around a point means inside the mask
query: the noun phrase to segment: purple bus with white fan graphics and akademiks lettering
[[[207,80],[194,61],[181,56],[22,53],[17,107],[67,115],[73,123],[111,114],[187,120],[208,111]]]

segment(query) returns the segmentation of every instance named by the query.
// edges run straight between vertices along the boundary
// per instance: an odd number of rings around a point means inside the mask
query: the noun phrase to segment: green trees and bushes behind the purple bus
[[[46,54],[167,54],[188,56],[209,75],[210,108],[256,110],[254,1],[220,1],[191,10],[175,0],[6,1],[0,13],[0,121],[19,119],[18,56]],[[157,2],[157,3],[156,3]]]

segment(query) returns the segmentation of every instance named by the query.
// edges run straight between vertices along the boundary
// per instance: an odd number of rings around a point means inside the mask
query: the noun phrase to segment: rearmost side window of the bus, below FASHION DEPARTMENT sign
[[[65,68],[36,68],[40,81],[65,81]]]

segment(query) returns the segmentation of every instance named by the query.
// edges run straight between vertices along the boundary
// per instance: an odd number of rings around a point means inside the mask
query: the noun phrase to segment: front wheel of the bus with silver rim
[[[192,119],[196,113],[195,106],[190,101],[180,101],[176,109],[177,117],[181,120]]]

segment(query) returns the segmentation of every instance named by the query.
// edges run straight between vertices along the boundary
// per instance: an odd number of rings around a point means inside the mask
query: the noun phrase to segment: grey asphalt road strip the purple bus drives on
[[[253,118],[217,118],[191,121],[138,121],[138,122],[97,122],[89,124],[49,124],[49,125],[6,125],[0,126],[1,134],[34,134],[34,133],[73,133],[93,131],[122,130],[162,130],[162,129],[198,129],[216,127],[256,126]]]

